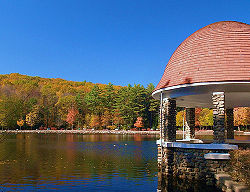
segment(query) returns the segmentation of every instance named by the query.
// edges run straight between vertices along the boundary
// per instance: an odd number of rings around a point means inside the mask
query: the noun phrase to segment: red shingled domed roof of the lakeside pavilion
[[[250,25],[222,21],[193,33],[173,53],[155,91],[218,81],[250,81]]]

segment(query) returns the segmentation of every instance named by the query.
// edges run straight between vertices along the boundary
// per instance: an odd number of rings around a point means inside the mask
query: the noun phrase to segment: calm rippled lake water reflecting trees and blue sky
[[[0,191],[156,191],[156,139],[8,135],[0,143]]]

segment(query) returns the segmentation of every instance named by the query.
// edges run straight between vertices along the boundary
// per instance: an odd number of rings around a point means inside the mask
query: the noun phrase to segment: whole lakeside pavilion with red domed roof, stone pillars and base
[[[161,150],[161,162],[165,164],[166,172],[170,170],[173,174],[185,177],[185,173],[180,172],[185,167],[190,168],[189,172],[198,178],[207,174],[200,174],[194,169],[204,163],[207,168],[208,162],[219,167],[213,171],[209,168],[209,172],[226,170],[225,162],[229,158],[227,152],[237,148],[225,144],[225,138],[234,138],[233,108],[250,107],[250,25],[218,22],[189,36],[171,56],[153,97],[161,100],[162,134],[158,144],[159,149],[164,150]],[[214,142],[176,142],[176,106],[186,107],[191,138],[195,136],[195,108],[213,108]],[[192,156],[194,153],[200,155],[199,160],[194,165],[182,165],[178,156],[189,152],[192,158],[195,158]],[[185,159],[185,155],[182,158]],[[179,168],[175,170],[173,166],[177,166],[174,162],[177,160]]]

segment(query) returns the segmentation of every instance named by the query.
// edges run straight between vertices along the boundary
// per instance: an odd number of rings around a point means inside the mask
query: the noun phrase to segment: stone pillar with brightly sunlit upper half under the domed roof
[[[214,92],[213,96],[214,143],[225,142],[225,95],[224,92]]]

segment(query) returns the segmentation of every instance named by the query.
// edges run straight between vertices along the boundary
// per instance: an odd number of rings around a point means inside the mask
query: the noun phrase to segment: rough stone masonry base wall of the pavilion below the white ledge
[[[228,171],[228,160],[208,160],[204,158],[206,153],[228,153],[228,150],[163,148],[159,169],[166,176],[215,185],[214,175]]]

